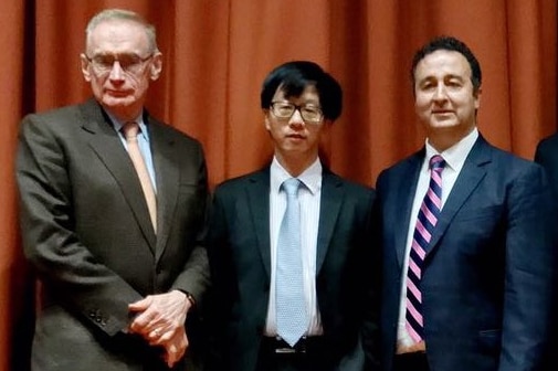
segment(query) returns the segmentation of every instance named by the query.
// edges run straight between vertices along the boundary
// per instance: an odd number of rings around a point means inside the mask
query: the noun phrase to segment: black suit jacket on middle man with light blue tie
[[[324,170],[316,292],[331,364],[357,347],[372,283],[371,189]],[[254,370],[270,300],[270,170],[214,191],[208,253],[217,297],[221,370]],[[373,331],[373,321],[368,330]],[[359,350],[357,350],[359,351]],[[325,371],[325,370],[324,370]]]

